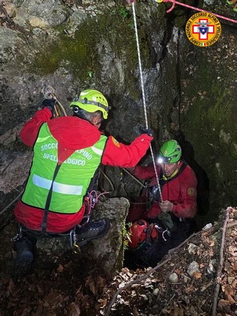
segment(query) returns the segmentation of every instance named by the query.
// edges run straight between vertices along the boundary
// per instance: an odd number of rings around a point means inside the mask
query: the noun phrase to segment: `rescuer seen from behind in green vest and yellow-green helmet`
[[[146,153],[153,131],[140,128],[140,136],[130,145],[99,131],[108,117],[107,99],[97,90],[87,89],[70,103],[73,116],[52,119],[55,99],[43,101],[43,109],[25,123],[22,142],[34,149],[31,170],[14,215],[23,227],[15,241],[14,274],[27,274],[34,259],[35,235],[57,234],[76,227],[79,242],[100,238],[108,232],[108,219],[80,223],[88,205],[87,195],[96,190],[94,182],[101,164],[134,167]]]

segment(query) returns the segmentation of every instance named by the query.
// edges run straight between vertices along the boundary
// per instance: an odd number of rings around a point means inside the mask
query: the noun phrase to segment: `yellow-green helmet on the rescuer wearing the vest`
[[[102,93],[97,90],[87,89],[83,90],[80,96],[76,95],[70,103],[69,109],[74,109],[75,107],[81,108],[90,113],[101,111],[104,119],[107,119],[108,117],[108,101]]]

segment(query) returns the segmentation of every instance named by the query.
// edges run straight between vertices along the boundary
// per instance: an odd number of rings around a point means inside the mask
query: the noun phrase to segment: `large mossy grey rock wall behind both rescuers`
[[[205,3],[208,11],[232,16],[224,0],[222,6]],[[209,189],[215,209],[223,203],[236,204],[235,30],[231,23],[223,24],[217,43],[194,46],[183,32],[187,11],[176,8],[167,14],[168,6],[136,4],[148,124],[155,131],[154,151],[168,138],[180,141],[198,175],[204,213]],[[106,133],[126,143],[138,136],[136,127],[145,122],[130,5],[125,1],[12,0],[3,3],[1,19],[1,144],[5,161],[15,156],[9,167],[4,163],[11,186],[20,191],[28,176],[24,166],[16,181],[11,166],[18,164],[18,152],[27,152],[19,130],[40,107],[44,85],[55,88],[66,109],[78,91],[101,90],[112,107]],[[118,192],[120,171],[104,171],[115,183],[111,196],[126,196]],[[124,182],[128,196],[138,194],[140,187],[135,188],[134,180],[126,176]],[[1,189],[3,207],[18,194],[15,189]]]

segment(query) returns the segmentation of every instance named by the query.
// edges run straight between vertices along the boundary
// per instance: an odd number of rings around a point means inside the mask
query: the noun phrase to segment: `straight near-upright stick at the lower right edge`
[[[226,232],[226,226],[227,222],[229,220],[229,210],[232,209],[232,207],[227,207],[225,211],[225,222],[222,228],[222,238],[221,238],[221,248],[220,248],[220,261],[219,266],[217,270],[217,276],[216,276],[216,287],[214,290],[214,298],[213,298],[213,305],[212,305],[212,316],[216,315],[217,311],[217,301],[218,301],[218,295],[220,291],[220,277],[221,277],[221,271],[223,268],[224,263],[224,245],[225,245],[225,232]]]

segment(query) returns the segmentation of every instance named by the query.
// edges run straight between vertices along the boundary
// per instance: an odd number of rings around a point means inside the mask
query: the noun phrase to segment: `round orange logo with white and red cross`
[[[196,46],[210,46],[219,39],[221,24],[215,15],[208,12],[199,12],[188,20],[186,35]]]

